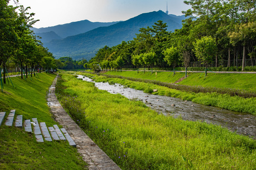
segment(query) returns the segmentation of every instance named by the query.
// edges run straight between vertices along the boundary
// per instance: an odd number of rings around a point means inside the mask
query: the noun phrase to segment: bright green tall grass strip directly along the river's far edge
[[[244,98],[240,96],[230,96],[229,94],[220,93],[195,93],[185,92],[176,89],[171,89],[161,85],[154,85],[152,83],[134,82],[127,79],[107,78],[106,76],[95,76],[92,74],[81,73],[85,76],[94,76],[93,79],[97,82],[109,82],[110,84],[119,83],[130,88],[143,90],[145,93],[152,93],[158,95],[166,95],[170,97],[181,98],[182,100],[197,102],[208,106],[217,106],[223,109],[250,113],[256,115],[256,98]],[[157,89],[157,92],[153,92]]]

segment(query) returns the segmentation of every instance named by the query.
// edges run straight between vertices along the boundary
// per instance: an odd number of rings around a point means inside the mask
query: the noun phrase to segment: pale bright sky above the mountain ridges
[[[81,20],[91,22],[125,21],[142,13],[166,11],[182,15],[190,7],[183,0],[19,0],[19,4],[30,7],[39,19],[36,28],[56,26]],[[10,5],[15,5],[10,0]]]

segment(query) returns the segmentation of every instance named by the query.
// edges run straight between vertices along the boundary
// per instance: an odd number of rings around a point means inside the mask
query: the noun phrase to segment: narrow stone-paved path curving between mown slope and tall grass
[[[47,96],[48,105],[51,109],[51,113],[54,119],[66,128],[68,134],[72,137],[76,143],[78,153],[83,157],[83,160],[88,163],[89,170],[121,170],[112,161],[106,153],[104,153],[98,145],[91,140],[85,132],[69,117],[63,107],[57,100],[55,95],[55,85],[57,83],[57,77],[54,79],[53,84],[49,88]]]

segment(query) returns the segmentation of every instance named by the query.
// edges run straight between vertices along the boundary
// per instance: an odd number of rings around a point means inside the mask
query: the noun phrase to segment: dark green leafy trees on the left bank
[[[18,0],[15,2],[18,3]],[[57,68],[52,53],[43,47],[39,37],[30,30],[38,20],[33,18],[34,13],[28,13],[28,9],[11,6],[9,0],[0,0],[0,67],[3,68],[4,83],[7,63],[18,65],[21,72],[26,72],[26,76],[29,69],[32,72],[38,68]]]

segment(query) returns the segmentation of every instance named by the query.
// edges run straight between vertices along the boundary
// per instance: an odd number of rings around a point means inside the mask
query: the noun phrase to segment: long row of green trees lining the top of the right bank
[[[179,30],[166,31],[166,24],[158,21],[152,27],[141,28],[136,38],[114,47],[97,51],[88,65],[100,64],[102,68],[122,68],[123,65],[139,67],[164,67],[190,61],[200,61],[205,66],[221,60],[256,60],[256,0],[188,0],[191,6],[182,11],[187,19]]]

